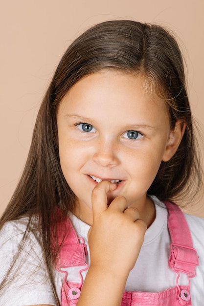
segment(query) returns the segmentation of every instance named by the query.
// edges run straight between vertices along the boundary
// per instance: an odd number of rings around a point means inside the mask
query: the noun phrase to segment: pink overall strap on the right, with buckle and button
[[[169,212],[168,229],[172,241],[168,263],[170,268],[178,274],[178,298],[182,298],[181,301],[184,303],[182,305],[185,305],[190,300],[189,279],[195,277],[195,270],[196,266],[199,265],[199,260],[197,252],[193,248],[190,230],[181,209],[174,203],[165,202],[165,205]],[[181,290],[179,286],[180,273],[185,273],[188,276],[187,290]]]

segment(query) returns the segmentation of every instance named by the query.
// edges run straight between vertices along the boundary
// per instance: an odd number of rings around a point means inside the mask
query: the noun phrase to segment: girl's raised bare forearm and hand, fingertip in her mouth
[[[146,224],[124,197],[107,206],[108,181],[92,192],[93,224],[89,231],[91,265],[77,306],[120,306],[130,270],[144,240]]]

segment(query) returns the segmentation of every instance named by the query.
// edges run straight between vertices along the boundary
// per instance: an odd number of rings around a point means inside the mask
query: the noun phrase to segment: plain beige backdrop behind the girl
[[[192,110],[204,130],[203,14],[204,0],[1,0],[0,214],[22,173],[52,73],[72,40],[92,24],[134,19],[175,31],[188,66]],[[188,211],[204,217],[203,203]]]

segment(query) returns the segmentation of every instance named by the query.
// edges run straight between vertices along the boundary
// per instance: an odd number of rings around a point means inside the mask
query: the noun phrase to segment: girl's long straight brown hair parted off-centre
[[[177,120],[186,124],[178,151],[170,161],[161,162],[148,194],[174,200],[188,190],[188,197],[189,191],[194,196],[192,177],[197,187],[194,192],[201,181],[183,60],[173,35],[158,25],[128,20],[102,22],[83,33],[68,47],[47,89],[23,175],[0,225],[22,216],[29,220],[39,216],[45,263],[56,299],[50,228],[56,229],[56,206],[64,216],[74,207],[74,194],[60,168],[56,113],[70,87],[107,68],[141,74],[147,90],[154,90],[166,102],[172,130]]]

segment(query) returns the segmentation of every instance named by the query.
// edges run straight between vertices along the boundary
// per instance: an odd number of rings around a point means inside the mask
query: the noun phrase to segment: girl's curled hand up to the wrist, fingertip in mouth
[[[91,268],[128,277],[139,255],[146,224],[136,208],[128,208],[125,197],[107,205],[107,193],[116,185],[102,181],[92,191],[93,224],[88,233]]]

